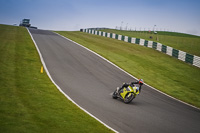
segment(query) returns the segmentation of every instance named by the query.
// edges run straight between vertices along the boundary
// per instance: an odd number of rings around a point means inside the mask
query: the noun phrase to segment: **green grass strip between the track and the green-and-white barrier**
[[[57,33],[97,52],[125,71],[189,104],[200,107],[200,69],[156,50],[83,32]]]

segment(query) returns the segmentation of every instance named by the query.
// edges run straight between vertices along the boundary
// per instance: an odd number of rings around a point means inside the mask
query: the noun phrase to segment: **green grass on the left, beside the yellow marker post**
[[[0,132],[111,132],[52,84],[25,28],[0,25]]]

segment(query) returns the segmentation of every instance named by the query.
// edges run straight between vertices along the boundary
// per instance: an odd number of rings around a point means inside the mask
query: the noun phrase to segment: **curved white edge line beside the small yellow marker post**
[[[27,30],[28,30],[28,28],[27,28]],[[54,80],[52,79],[52,77],[51,77],[51,75],[50,75],[50,73],[49,73],[49,71],[48,71],[48,69],[47,69],[47,67],[46,67],[46,64],[45,64],[45,62],[44,62],[44,60],[43,60],[42,54],[40,53],[40,50],[39,50],[39,48],[38,48],[38,46],[37,46],[35,40],[33,39],[33,36],[31,35],[31,33],[30,33],[29,30],[28,30],[28,32],[29,32],[29,35],[31,36],[31,39],[33,40],[33,43],[35,44],[35,47],[36,47],[36,49],[37,49],[37,51],[38,51],[38,53],[39,53],[40,60],[41,60],[41,62],[42,62],[42,65],[43,65],[43,67],[44,67],[44,69],[45,69],[47,75],[48,75],[49,78],[51,79],[51,82],[57,87],[57,89],[58,89],[67,99],[69,99],[72,103],[74,103],[77,107],[79,107],[79,108],[80,108],[81,110],[83,110],[85,113],[87,113],[88,115],[90,115],[91,117],[93,117],[94,119],[96,119],[97,121],[99,121],[101,124],[103,124],[103,125],[104,125],[105,127],[107,127],[108,129],[112,130],[112,131],[115,132],[115,133],[118,133],[118,131],[116,131],[115,129],[113,129],[113,128],[111,128],[110,126],[106,125],[106,124],[105,124],[104,122],[102,122],[100,119],[98,119],[97,117],[95,117],[94,115],[92,115],[90,112],[88,112],[87,110],[85,110],[84,108],[82,108],[81,106],[79,106],[79,105],[78,105],[75,101],[73,101],[66,93],[64,93],[64,92],[62,91],[62,89],[61,89],[61,88],[54,82]]]

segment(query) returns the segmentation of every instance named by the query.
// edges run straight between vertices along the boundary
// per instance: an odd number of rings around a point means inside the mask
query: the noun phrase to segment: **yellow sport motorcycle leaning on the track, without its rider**
[[[121,89],[119,92],[117,91],[118,89],[113,92],[112,97],[114,99],[120,98],[124,103],[128,104],[139,94],[139,87],[136,85],[133,87],[129,85],[128,87]]]

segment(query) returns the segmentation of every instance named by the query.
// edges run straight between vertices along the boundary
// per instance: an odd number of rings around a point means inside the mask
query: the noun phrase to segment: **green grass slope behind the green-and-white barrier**
[[[145,32],[144,31],[121,31],[121,30],[113,30],[113,29],[106,29],[102,31],[135,37],[135,38],[142,38],[146,40],[152,40],[155,42],[160,42],[163,45],[167,45],[175,49],[185,51],[189,54],[200,56],[200,37],[199,36],[177,33],[177,32],[163,32],[163,31],[158,31],[158,34],[152,34],[146,31]],[[152,36],[153,39],[150,39],[149,38],[150,36]]]

